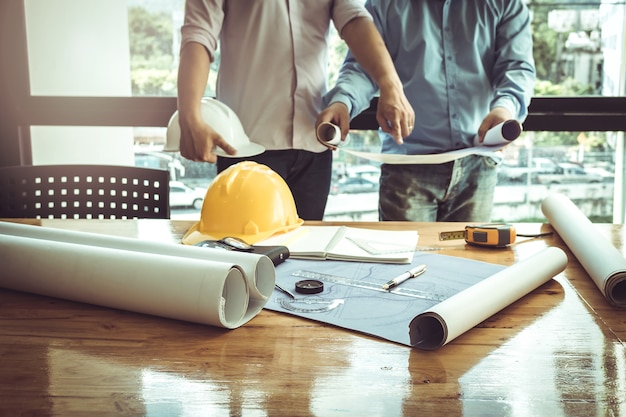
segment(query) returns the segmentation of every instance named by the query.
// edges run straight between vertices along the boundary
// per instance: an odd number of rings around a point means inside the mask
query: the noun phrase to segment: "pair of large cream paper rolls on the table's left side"
[[[0,222],[0,286],[236,328],[275,283],[266,256]]]

